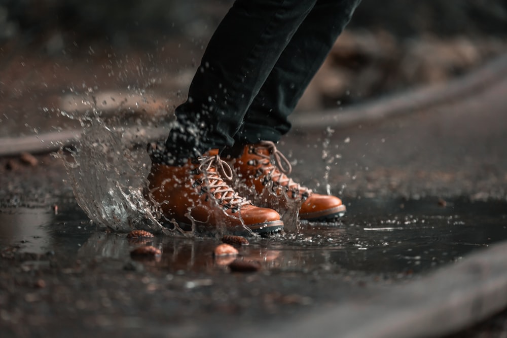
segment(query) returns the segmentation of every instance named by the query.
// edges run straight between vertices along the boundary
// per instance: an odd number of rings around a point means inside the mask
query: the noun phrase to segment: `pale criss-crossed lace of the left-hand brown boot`
[[[223,177],[228,180],[232,179],[232,169],[219,155],[202,157],[198,161],[200,163],[198,171],[204,173],[208,181],[206,187],[219,204],[233,209],[233,212],[239,210],[243,205],[251,204],[249,200],[239,196],[224,181]]]

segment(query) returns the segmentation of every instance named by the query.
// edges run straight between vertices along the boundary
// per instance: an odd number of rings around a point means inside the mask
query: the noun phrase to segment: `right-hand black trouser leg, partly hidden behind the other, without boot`
[[[318,68],[350,21],[360,0],[317,0],[278,58],[269,77],[247,110],[236,143],[278,142]]]

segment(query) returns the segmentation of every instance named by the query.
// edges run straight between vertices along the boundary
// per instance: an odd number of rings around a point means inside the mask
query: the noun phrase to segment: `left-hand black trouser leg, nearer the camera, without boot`
[[[214,32],[176,109],[165,149],[152,161],[182,165],[234,143],[246,110],[317,0],[236,0]]]

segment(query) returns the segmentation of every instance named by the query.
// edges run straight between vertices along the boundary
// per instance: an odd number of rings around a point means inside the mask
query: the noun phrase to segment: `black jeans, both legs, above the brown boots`
[[[236,0],[176,108],[156,162],[183,164],[212,148],[277,142],[308,83],[360,0]]]

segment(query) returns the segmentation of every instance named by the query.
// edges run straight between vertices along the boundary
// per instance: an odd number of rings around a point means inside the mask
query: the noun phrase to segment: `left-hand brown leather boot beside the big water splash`
[[[203,225],[237,231],[247,227],[257,233],[283,228],[275,210],[252,205],[223,177],[232,178],[232,170],[216,150],[184,166],[153,163],[148,175],[148,198],[158,204],[166,219],[175,220],[184,230],[191,229],[193,223],[200,229]]]

